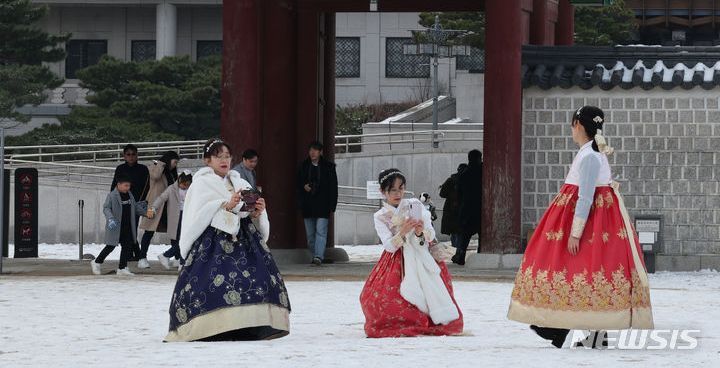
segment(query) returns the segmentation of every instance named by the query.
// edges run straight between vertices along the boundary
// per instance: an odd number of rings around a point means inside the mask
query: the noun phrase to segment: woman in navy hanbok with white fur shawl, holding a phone
[[[180,236],[185,260],[170,303],[165,341],[263,340],[289,333],[290,302],[267,248],[270,223],[262,198],[230,170],[230,147],[204,147],[208,167],[188,189]],[[253,208],[254,207],[254,208]]]

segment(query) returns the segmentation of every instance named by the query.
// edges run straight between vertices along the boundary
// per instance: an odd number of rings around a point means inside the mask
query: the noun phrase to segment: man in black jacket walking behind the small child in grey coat
[[[128,144],[125,146],[125,148],[123,148],[123,157],[125,158],[125,163],[115,168],[115,175],[113,175],[113,182],[110,186],[110,190],[112,191],[115,189],[117,186],[117,179],[119,177],[126,177],[130,180],[130,192],[135,200],[143,202],[147,197],[150,172],[148,171],[147,166],[138,163],[138,151],[135,145]],[[139,223],[140,215],[138,214],[135,217],[135,225],[137,226]],[[137,228],[135,231],[137,231]],[[135,244],[132,246],[132,256],[130,260],[137,261],[138,259],[140,259],[140,245],[137,244],[136,240]]]

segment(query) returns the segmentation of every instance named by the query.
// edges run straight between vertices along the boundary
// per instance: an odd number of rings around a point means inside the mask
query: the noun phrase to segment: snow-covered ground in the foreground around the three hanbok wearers
[[[290,336],[162,343],[172,276],[1,277],[0,367],[669,367],[720,361],[720,273],[651,275],[656,328],[699,347],[558,350],[505,317],[511,283],[456,282],[466,336],[367,339],[362,282],[288,282]],[[714,362],[714,363],[713,363]]]

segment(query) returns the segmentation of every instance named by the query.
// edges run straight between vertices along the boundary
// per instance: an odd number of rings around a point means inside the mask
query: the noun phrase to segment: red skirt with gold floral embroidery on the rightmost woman
[[[540,220],[515,278],[508,318],[566,329],[653,328],[642,250],[622,198],[611,187],[595,190],[573,256],[567,244],[577,199],[578,187],[565,184]]]

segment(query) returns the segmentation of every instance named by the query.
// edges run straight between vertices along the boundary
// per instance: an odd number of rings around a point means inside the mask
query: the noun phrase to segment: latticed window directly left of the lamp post
[[[405,55],[403,45],[413,43],[412,38],[385,39],[386,78],[429,78],[430,57]]]

